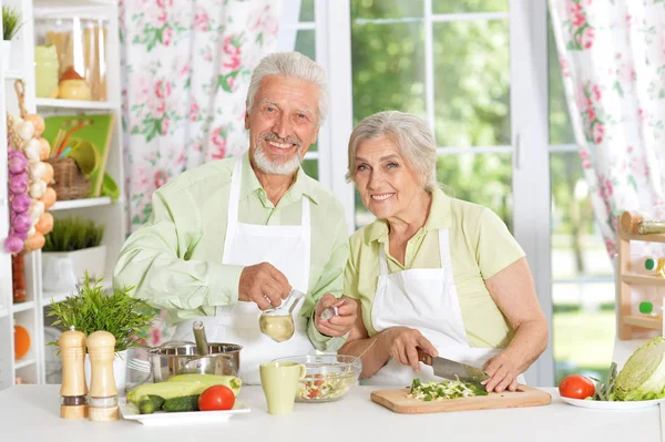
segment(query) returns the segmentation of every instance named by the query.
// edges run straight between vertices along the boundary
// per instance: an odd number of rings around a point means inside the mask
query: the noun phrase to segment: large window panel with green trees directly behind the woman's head
[[[351,0],[354,123],[422,117],[447,192],[512,227],[508,19],[507,0]],[[356,226],[372,219],[356,192]]]

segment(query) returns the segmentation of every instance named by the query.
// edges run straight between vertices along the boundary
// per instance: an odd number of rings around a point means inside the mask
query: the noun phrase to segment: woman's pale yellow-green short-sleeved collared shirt
[[[430,214],[407,244],[405,265],[390,256],[388,224],[377,219],[356,232],[345,271],[345,295],[359,299],[369,336],[377,333],[371,307],[379,278],[379,247],[383,247],[388,273],[411,268],[440,268],[440,228],[449,228],[450,258],[467,339],[471,347],[505,348],[514,335],[497,307],[484,280],[524,256],[505,224],[489,208],[432,192]]]

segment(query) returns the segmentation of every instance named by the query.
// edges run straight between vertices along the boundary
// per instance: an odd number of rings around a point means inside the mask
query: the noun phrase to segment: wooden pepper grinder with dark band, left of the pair
[[[60,417],[88,418],[88,386],[85,384],[85,335],[71,327],[58,340],[62,358],[62,386],[60,386]]]

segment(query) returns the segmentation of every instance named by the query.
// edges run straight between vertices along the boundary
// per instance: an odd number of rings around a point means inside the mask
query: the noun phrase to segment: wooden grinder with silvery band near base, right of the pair
[[[88,337],[90,356],[90,420],[96,422],[119,419],[117,389],[113,377],[115,338],[108,331],[99,330]]]

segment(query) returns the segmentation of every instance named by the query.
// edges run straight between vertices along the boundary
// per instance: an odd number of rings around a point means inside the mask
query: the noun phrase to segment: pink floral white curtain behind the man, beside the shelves
[[[280,9],[282,0],[120,0],[129,232],[170,178],[247,148],[247,88],[276,48]],[[163,332],[143,338],[157,345]]]

